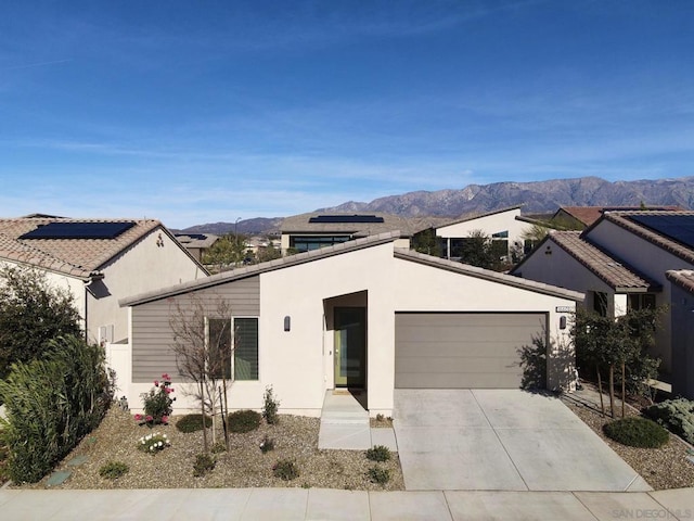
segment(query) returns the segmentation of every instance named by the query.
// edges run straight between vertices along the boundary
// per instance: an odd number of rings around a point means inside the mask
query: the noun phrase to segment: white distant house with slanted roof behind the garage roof
[[[524,233],[530,225],[518,220],[520,206],[474,215],[436,227],[436,236],[444,242],[445,258],[460,258],[460,250],[474,231],[481,231],[498,246],[502,256],[510,256],[512,249],[523,250]]]

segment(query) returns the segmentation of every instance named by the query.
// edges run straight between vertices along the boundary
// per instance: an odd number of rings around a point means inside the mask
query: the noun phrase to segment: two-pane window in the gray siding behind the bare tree
[[[231,379],[233,374],[234,380],[258,380],[258,319],[256,317],[208,319],[207,345],[210,350],[209,365],[213,378]]]

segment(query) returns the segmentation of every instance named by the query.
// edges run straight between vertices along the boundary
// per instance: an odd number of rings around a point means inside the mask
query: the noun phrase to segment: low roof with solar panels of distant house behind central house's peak
[[[311,217],[323,215],[343,217],[357,215],[355,213],[311,212],[286,217],[282,221],[282,233],[349,233],[355,237],[370,237],[398,230],[402,237],[412,237],[417,231],[436,227],[444,221],[440,217],[400,217],[380,212],[364,214],[382,217],[383,223],[309,223]]]

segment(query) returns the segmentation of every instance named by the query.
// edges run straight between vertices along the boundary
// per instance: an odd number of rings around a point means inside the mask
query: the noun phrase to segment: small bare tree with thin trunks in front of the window
[[[171,350],[176,354],[178,371],[181,377],[195,383],[195,389],[190,395],[201,406],[205,452],[208,452],[205,417],[213,418],[214,444],[218,412],[224,427],[224,444],[229,448],[226,422],[227,389],[233,380],[231,308],[220,296],[208,301],[197,296],[185,296],[174,300],[169,316],[169,326],[174,332]]]

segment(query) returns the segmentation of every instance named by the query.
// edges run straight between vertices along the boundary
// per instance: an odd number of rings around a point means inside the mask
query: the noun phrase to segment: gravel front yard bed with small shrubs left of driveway
[[[118,407],[108,410],[101,425],[67,457],[55,470],[68,470],[72,475],[52,488],[215,488],[215,487],[326,487],[369,491],[404,490],[397,453],[390,461],[375,463],[363,450],[319,450],[320,420],[280,415],[280,422],[244,434],[230,434],[230,450],[215,455],[217,465],[208,474],[193,475],[196,455],[203,452],[202,431],[181,433],[172,417],[168,425],[153,429],[140,427],[128,412]],[[138,450],[141,436],[159,432],[171,445],[157,454]],[[208,431],[209,432],[209,431]],[[265,435],[274,441],[274,449],[262,453]],[[218,434],[217,441],[223,441]],[[211,445],[210,445],[211,446]],[[87,459],[76,466],[70,461],[79,456]],[[82,458],[78,458],[78,461]],[[292,481],[275,478],[272,467],[280,459],[296,462],[299,476]],[[123,461],[130,470],[121,478],[108,480],[99,475],[107,461]],[[385,485],[372,483],[368,476],[371,467],[387,468],[390,481]],[[44,488],[46,476],[39,483],[13,487]]]

